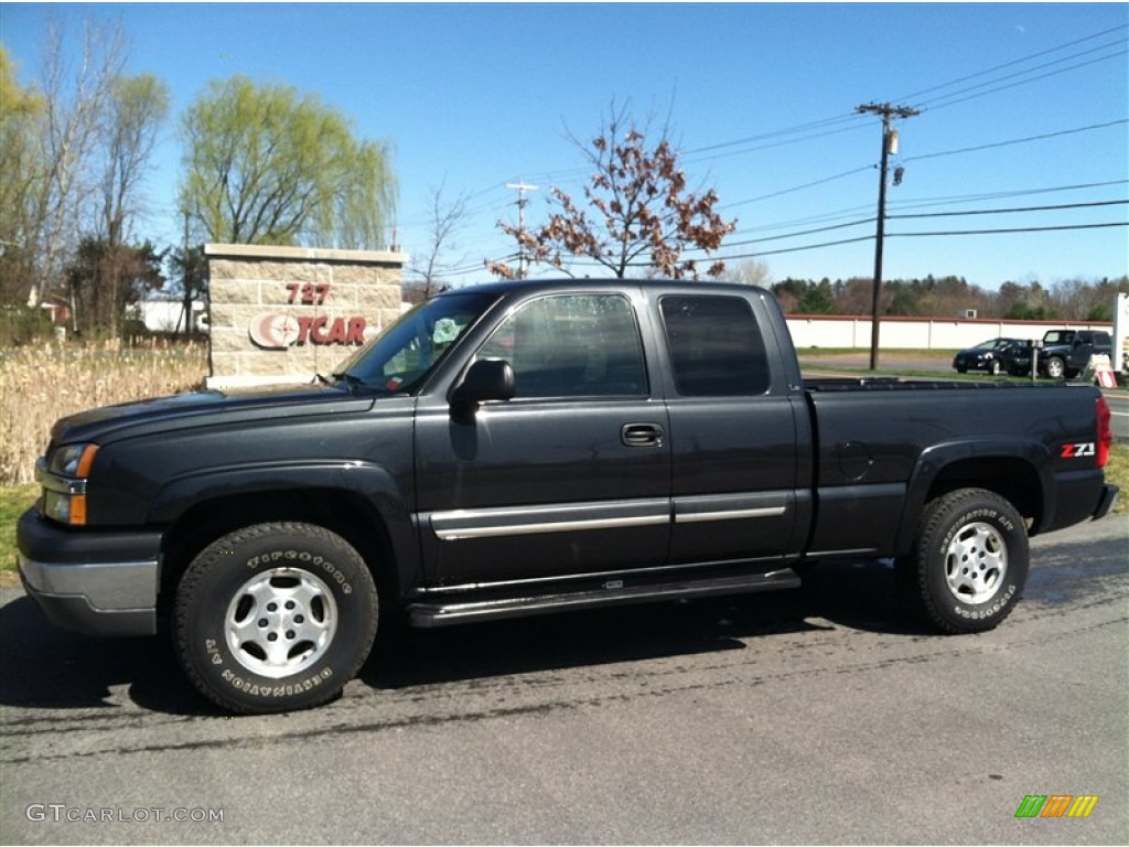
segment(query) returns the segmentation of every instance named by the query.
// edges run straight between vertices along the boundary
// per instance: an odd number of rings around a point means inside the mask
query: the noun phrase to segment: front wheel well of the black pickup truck
[[[256,491],[196,504],[165,532],[158,614],[165,617],[172,611],[181,575],[208,544],[243,526],[271,521],[300,521],[335,532],[360,553],[382,600],[399,596],[392,543],[384,521],[360,495],[316,488]]]

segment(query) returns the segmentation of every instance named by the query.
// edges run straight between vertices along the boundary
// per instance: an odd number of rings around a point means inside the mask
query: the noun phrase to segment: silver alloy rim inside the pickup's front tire
[[[330,587],[309,571],[272,568],[243,584],[225,621],[236,661],[277,680],[298,673],[330,648],[338,606]]]

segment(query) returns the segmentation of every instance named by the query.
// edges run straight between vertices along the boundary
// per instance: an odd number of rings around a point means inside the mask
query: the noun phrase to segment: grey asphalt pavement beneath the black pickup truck
[[[165,643],[59,631],[5,588],[0,840],[1126,844],[1127,561],[1119,518],[1036,539],[980,636],[907,620],[867,562],[409,631],[342,699],[244,718]],[[1056,794],[1099,800],[1015,817]]]

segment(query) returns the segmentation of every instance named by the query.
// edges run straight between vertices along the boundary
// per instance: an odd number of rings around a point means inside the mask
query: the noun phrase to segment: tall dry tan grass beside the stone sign
[[[43,342],[0,350],[0,484],[34,479],[56,419],[187,391],[207,373],[203,344]]]

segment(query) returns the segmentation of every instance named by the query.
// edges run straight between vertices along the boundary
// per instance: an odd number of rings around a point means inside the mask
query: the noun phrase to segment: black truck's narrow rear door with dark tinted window
[[[797,488],[795,399],[773,384],[747,298],[669,294],[658,312],[669,356],[672,564],[763,560],[770,569],[800,550],[797,514],[809,509]]]

